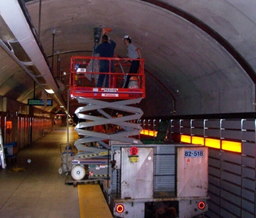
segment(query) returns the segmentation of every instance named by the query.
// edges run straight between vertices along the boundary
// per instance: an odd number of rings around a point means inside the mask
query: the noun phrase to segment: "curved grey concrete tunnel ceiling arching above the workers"
[[[71,55],[91,54],[93,27],[112,28],[121,57],[123,36],[132,37],[146,59],[147,97],[139,106],[145,115],[255,111],[254,1],[42,0],[40,31],[39,5],[26,3],[49,62],[56,29],[54,53],[60,51],[63,71],[69,71]],[[13,99],[31,95],[32,84]]]

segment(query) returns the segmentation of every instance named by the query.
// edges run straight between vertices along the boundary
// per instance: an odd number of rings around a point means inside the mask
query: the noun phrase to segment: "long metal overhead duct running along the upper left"
[[[31,28],[32,22],[28,13],[23,13],[26,10],[24,5],[22,0],[20,4],[17,0],[1,0],[0,46],[42,89],[52,90],[52,99],[67,110],[45,55],[39,47],[38,39],[33,34],[35,30]]]

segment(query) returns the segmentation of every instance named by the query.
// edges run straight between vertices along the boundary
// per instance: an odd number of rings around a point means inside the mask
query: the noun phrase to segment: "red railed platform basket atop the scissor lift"
[[[100,73],[99,61],[108,60],[109,69],[111,61],[114,64],[113,72]],[[138,73],[129,74],[138,79],[138,88],[122,88],[124,76],[129,72],[131,61],[140,60]],[[123,63],[126,61],[125,63]],[[137,99],[145,98],[145,59],[72,56],[70,63],[70,96],[91,99]],[[91,67],[93,65],[93,67]],[[79,68],[77,69],[77,67]],[[99,74],[109,75],[109,88],[96,87],[96,77]],[[137,83],[135,82],[137,85]]]

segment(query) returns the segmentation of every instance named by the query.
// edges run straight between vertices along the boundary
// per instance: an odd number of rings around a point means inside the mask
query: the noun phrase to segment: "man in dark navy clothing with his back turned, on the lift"
[[[113,57],[116,43],[111,40],[107,35],[102,36],[102,43],[95,49],[95,54],[99,54],[100,57]],[[100,60],[99,72],[109,72],[109,60]],[[114,65],[111,61],[111,72],[113,72]],[[106,74],[99,74],[97,87],[102,87]],[[106,75],[105,87],[109,85],[109,75]]]

